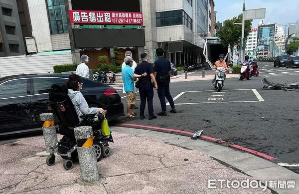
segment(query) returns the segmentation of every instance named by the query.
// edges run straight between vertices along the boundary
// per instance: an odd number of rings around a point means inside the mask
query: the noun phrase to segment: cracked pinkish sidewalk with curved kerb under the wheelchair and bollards
[[[269,189],[261,187],[234,189],[231,183],[227,187],[227,182],[221,188],[215,181],[210,182],[215,188],[209,189],[208,180],[299,180],[298,174],[274,163],[212,142],[134,128],[112,130],[112,153],[98,162],[101,179],[95,183],[80,180],[78,163],[66,171],[60,156],[56,156],[54,166],[47,166],[46,157],[35,155],[45,150],[42,136],[1,145],[0,193],[270,194]],[[213,158],[224,162],[220,164]],[[276,191],[298,194],[299,187]]]

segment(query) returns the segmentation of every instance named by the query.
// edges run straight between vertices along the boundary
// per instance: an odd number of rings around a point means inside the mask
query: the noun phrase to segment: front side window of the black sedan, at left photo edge
[[[5,82],[0,85],[0,98],[11,98],[18,96],[26,96],[27,79],[18,79]]]

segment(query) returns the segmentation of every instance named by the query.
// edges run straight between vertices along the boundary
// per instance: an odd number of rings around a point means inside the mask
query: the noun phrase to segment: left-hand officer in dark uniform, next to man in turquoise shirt
[[[151,64],[148,62],[148,54],[142,53],[141,55],[142,62],[137,65],[134,72],[134,77],[138,77],[140,85],[139,85],[139,94],[140,94],[140,118],[145,119],[145,108],[146,102],[148,100],[148,109],[149,109],[149,120],[157,118],[153,115],[153,105],[152,105],[152,98],[153,98],[153,89],[152,83],[154,84],[154,88],[157,90],[157,82],[153,75],[153,68]],[[146,76],[141,76],[142,74],[147,73]],[[138,76],[140,75],[140,76]]]

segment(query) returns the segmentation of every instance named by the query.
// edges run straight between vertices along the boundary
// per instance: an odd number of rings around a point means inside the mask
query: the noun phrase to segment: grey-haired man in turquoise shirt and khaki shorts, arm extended
[[[132,65],[133,65],[133,59],[131,56],[126,56],[125,58],[126,66],[122,69],[122,77],[124,82],[124,89],[125,92],[128,95],[128,102],[127,102],[127,117],[134,118],[137,113],[135,113],[135,92],[134,92],[134,77],[142,77],[146,76],[146,73],[142,75],[137,75],[133,73]],[[130,110],[132,110],[132,114],[130,113]]]

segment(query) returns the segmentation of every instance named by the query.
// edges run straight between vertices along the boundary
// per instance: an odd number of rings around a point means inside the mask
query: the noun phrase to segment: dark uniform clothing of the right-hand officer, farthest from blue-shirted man
[[[165,59],[164,57],[159,57],[156,61],[154,61],[154,66],[153,66],[154,72],[157,72],[156,74],[156,82],[158,85],[158,96],[160,99],[161,103],[161,109],[162,112],[166,112],[166,101],[165,97],[167,98],[171,109],[174,109],[174,102],[172,99],[172,96],[170,95],[169,91],[169,82],[170,82],[170,77],[168,75],[168,71],[171,71],[171,66],[170,62]],[[161,82],[160,77],[161,76],[166,76],[167,79],[164,79],[163,82]]]

